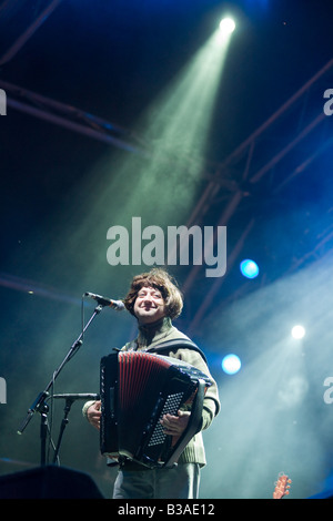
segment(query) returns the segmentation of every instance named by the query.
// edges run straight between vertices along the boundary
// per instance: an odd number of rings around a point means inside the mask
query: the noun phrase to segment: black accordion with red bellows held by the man
[[[142,351],[118,351],[101,359],[100,450],[144,467],[172,467],[200,430],[210,378],[175,358]],[[184,432],[163,432],[161,418],[190,408]]]

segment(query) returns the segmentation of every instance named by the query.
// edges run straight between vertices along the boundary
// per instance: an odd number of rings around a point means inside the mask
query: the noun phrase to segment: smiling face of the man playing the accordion
[[[140,324],[151,324],[165,316],[165,303],[154,287],[142,287],[134,303],[134,315]]]

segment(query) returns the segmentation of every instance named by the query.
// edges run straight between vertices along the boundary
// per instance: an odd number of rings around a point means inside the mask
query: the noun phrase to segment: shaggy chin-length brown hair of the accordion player
[[[148,273],[135,275],[132,279],[130,290],[123,303],[125,308],[134,315],[134,303],[142,287],[154,287],[161,292],[165,303],[167,316],[176,318],[182,313],[183,297],[174,278],[162,268],[153,268]]]

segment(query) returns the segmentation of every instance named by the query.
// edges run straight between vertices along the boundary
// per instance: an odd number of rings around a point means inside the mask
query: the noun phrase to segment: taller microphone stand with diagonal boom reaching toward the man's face
[[[65,366],[65,364],[78,353],[78,350],[82,346],[84,333],[87,331],[87,329],[91,325],[92,320],[97,317],[97,315],[99,315],[101,313],[103,307],[104,307],[103,304],[99,304],[94,308],[94,311],[93,311],[92,316],[90,317],[89,321],[87,323],[87,325],[84,326],[82,333],[79,335],[77,340],[72,344],[70,350],[68,351],[67,356],[64,357],[64,359],[62,360],[62,362],[60,364],[58,369],[53,372],[52,379],[49,381],[46,389],[37,396],[36,400],[32,402],[32,405],[28,409],[28,415],[27,415],[26,419],[22,421],[21,427],[18,430],[18,435],[22,435],[24,429],[27,428],[28,423],[30,422],[31,418],[33,417],[34,412],[40,413],[40,417],[41,417],[41,425],[40,425],[40,442],[41,442],[40,463],[41,463],[42,467],[47,464],[47,436],[48,436],[48,411],[49,411],[49,406],[46,402],[46,400],[47,400],[47,397],[49,396],[49,390],[53,386],[56,379],[60,375],[60,372],[63,369],[63,367]],[[69,409],[67,411],[67,416],[69,413],[69,410],[70,410],[70,406],[69,406]],[[65,416],[65,419],[67,419],[67,416]]]

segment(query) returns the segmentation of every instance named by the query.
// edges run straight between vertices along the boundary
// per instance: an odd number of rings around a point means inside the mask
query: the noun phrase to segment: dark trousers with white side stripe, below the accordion
[[[120,469],[113,499],[198,499],[199,484],[198,463],[142,471]]]

